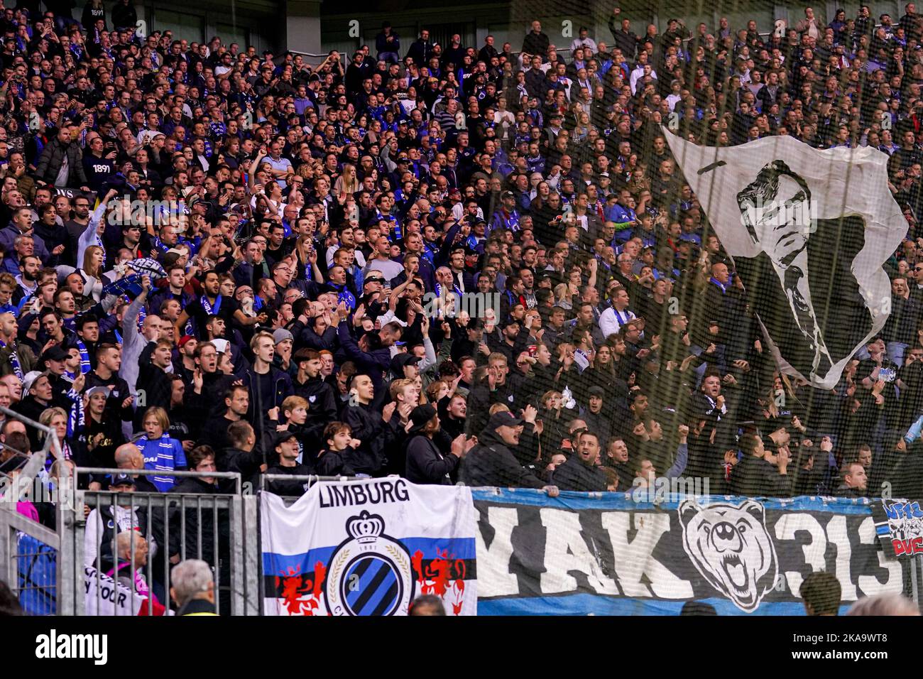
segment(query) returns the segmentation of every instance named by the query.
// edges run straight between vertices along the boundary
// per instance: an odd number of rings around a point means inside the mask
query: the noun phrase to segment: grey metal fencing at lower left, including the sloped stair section
[[[90,473],[151,475],[77,468]],[[236,493],[77,491],[65,479],[54,503],[56,530],[19,515],[15,503],[0,503],[0,579],[25,612],[156,614],[170,607],[173,566],[201,559],[214,576],[217,612],[258,614],[256,496],[240,494],[234,473],[157,475],[230,479]]]

